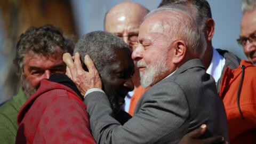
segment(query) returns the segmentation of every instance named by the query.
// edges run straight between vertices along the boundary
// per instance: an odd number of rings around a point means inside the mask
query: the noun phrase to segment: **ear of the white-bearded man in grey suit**
[[[185,41],[175,41],[174,42],[174,55],[173,55],[173,63],[180,63],[184,58],[187,52],[187,45]]]

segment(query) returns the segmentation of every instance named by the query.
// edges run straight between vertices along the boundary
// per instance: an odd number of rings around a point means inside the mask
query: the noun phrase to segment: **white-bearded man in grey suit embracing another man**
[[[101,81],[97,81],[97,70],[74,68],[76,59],[73,65],[67,64],[79,91],[85,94],[97,143],[177,143],[203,123],[207,131],[201,138],[223,135],[229,140],[225,108],[215,81],[199,59],[203,33],[190,13],[188,6],[166,6],[150,12],[142,22],[132,59],[139,63],[141,84],[152,87],[124,125],[114,117],[99,86]]]

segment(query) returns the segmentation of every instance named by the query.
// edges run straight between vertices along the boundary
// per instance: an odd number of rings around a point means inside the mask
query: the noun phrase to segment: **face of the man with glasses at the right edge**
[[[240,38],[248,38],[256,34],[256,9],[246,12],[241,21]],[[256,65],[256,42],[250,43],[248,40],[243,45],[244,53],[247,58]]]

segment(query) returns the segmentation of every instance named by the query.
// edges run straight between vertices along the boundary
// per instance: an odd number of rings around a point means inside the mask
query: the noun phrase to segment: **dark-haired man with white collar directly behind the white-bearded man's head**
[[[184,4],[193,9],[192,17],[196,20],[197,25],[203,31],[205,44],[202,61],[206,73],[213,76],[217,85],[218,93],[223,73],[227,67],[235,69],[239,66],[240,59],[233,53],[215,49],[212,45],[214,34],[214,20],[212,19],[211,7],[206,0],[163,0],[158,7],[168,4]]]

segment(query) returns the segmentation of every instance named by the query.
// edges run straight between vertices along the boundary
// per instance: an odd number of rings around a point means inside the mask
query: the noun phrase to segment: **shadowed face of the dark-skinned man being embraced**
[[[103,68],[101,75],[103,90],[109,97],[114,113],[117,114],[124,104],[124,98],[134,86],[132,75],[134,63],[131,52],[127,50],[115,50],[116,60],[108,63]]]

